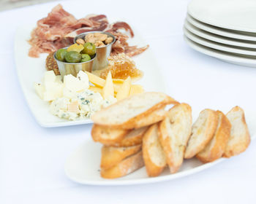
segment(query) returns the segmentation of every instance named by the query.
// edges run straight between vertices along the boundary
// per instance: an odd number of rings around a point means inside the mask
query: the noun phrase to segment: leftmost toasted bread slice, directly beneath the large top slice
[[[105,127],[94,124],[91,128],[91,137],[102,144],[117,143],[129,133],[129,130]]]

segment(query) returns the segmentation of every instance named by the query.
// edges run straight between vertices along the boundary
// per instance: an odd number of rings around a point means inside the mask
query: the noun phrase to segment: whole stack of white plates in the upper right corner
[[[206,55],[256,67],[256,0],[192,0],[184,39]]]

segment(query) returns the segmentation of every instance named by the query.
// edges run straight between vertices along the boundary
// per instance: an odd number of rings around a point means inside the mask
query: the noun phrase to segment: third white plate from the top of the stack
[[[211,40],[211,41],[214,41],[214,42],[219,42],[219,43],[222,43],[222,44],[229,44],[229,45],[233,45],[233,46],[238,46],[238,47],[256,48],[256,42],[241,41],[241,40],[237,40],[237,39],[227,38],[225,36],[219,36],[219,35],[216,35],[216,34],[211,34],[207,31],[203,31],[203,30],[193,26],[187,20],[185,20],[184,26],[192,34],[200,36],[204,39],[208,39],[208,40]]]

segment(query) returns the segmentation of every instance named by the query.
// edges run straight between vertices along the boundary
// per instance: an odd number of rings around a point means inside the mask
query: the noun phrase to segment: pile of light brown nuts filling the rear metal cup
[[[93,34],[87,34],[84,39],[76,40],[77,44],[84,44],[87,42],[91,42],[95,44],[96,47],[103,47],[113,42],[113,37],[108,36],[107,34],[93,33]]]

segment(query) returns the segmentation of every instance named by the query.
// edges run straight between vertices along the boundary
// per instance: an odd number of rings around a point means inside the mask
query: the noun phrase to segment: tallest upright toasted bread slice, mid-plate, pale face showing
[[[192,129],[192,109],[187,103],[173,106],[159,124],[160,141],[170,173],[176,173],[183,162]]]

